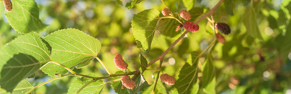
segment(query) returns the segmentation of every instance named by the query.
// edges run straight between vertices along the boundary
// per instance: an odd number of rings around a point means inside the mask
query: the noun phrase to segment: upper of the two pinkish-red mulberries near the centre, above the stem
[[[114,56],[114,64],[120,70],[126,70],[127,67],[128,67],[128,65],[126,64],[126,62],[122,59],[122,55],[120,55],[120,54],[116,54]]]

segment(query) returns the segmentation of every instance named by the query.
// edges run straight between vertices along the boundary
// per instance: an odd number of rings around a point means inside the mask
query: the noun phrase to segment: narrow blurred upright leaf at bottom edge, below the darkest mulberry
[[[202,86],[204,87],[203,91],[207,94],[215,94],[215,68],[213,58],[210,54],[207,54],[207,57],[202,65],[202,74]]]

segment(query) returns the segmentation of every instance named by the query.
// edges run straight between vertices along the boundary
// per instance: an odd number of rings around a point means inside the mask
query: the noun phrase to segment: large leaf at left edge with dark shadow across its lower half
[[[35,32],[20,35],[4,45],[0,56],[0,86],[9,92],[51,60],[47,45]]]

